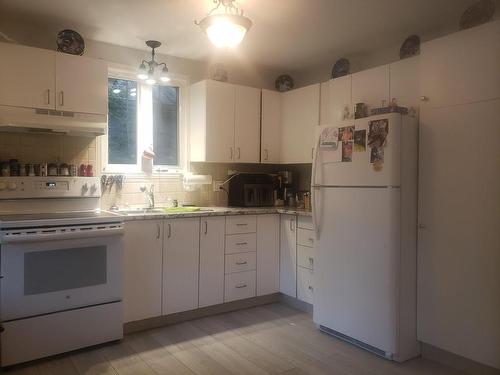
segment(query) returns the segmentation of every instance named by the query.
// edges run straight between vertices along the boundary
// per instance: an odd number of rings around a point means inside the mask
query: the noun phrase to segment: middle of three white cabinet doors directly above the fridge
[[[389,103],[389,65],[363,70],[352,75],[352,103],[365,103],[368,111]]]

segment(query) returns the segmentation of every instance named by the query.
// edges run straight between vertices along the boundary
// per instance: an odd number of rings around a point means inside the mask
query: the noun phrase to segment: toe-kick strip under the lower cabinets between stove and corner
[[[247,298],[244,300],[222,303],[220,305],[202,307],[196,310],[183,311],[176,314],[158,316],[154,318],[138,320],[135,322],[125,323],[123,332],[125,334],[145,331],[152,328],[163,327],[171,324],[185,322],[188,320],[204,318],[210,315],[217,315],[231,311],[247,309],[250,307],[267,305],[279,301],[279,293],[269,294],[267,296]]]

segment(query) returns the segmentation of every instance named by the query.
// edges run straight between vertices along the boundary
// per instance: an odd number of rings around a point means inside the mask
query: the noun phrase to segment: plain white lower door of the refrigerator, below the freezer
[[[397,351],[400,191],[320,188],[314,322]]]

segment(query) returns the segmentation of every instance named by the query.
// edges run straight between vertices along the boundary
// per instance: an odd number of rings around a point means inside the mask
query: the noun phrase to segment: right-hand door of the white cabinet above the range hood
[[[108,66],[103,60],[56,53],[56,109],[108,113]]]

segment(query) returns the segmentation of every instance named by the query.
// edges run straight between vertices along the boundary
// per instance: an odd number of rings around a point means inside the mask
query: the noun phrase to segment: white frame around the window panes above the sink
[[[188,80],[181,76],[170,75],[170,82],[162,84],[161,86],[174,86],[178,88],[178,113],[177,113],[177,152],[178,152],[178,165],[154,165],[152,169],[145,170],[143,166],[143,151],[145,146],[153,142],[153,123],[152,123],[152,108],[151,108],[151,121],[147,125],[149,130],[147,135],[139,131],[141,129],[141,104],[144,105],[143,88],[147,90],[152,87],[136,77],[136,71],[129,68],[109,68],[108,78],[124,79],[137,82],[137,160],[135,164],[108,164],[108,134],[98,138],[98,159],[99,170],[103,174],[120,173],[126,175],[146,176],[146,175],[180,175],[183,174],[187,168],[187,155],[188,155],[188,140],[187,140],[187,103],[188,103]],[[151,90],[152,91],[152,90]],[[152,94],[152,92],[151,92]],[[152,104],[152,96],[151,96]],[[146,120],[147,121],[147,120]],[[142,126],[144,123],[142,123]],[[151,141],[148,143],[148,141]]]

